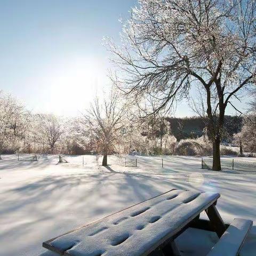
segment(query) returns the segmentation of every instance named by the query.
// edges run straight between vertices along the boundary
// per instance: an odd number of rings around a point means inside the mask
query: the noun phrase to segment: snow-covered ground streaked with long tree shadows
[[[256,170],[202,170],[201,158],[186,156],[165,156],[163,168],[161,157],[134,156],[138,167],[119,166],[114,156],[108,167],[99,166],[101,158],[91,155],[84,156],[84,166],[82,156],[65,156],[66,164],[57,164],[56,155],[40,155],[37,162],[17,161],[16,155],[2,158],[1,256],[36,256],[45,251],[42,242],[47,239],[171,188],[220,193],[217,208],[225,222],[235,217],[254,221],[241,256],[256,255]],[[193,229],[177,243],[182,255],[205,255],[216,239],[214,233],[205,239],[201,230]]]

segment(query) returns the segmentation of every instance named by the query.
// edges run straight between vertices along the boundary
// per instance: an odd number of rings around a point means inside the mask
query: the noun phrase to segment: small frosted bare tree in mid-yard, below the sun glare
[[[120,105],[120,95],[111,90],[107,99],[101,103],[98,98],[84,113],[84,127],[90,137],[94,150],[103,155],[102,165],[107,166],[107,156],[114,153],[118,142],[125,133],[124,122],[127,109]]]

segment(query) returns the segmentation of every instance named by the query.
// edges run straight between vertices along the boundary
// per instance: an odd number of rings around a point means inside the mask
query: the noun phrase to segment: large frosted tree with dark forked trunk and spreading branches
[[[199,87],[206,101],[213,170],[221,170],[225,110],[255,84],[255,0],[139,0],[123,28],[122,46],[109,41],[115,81],[132,99],[170,109]]]

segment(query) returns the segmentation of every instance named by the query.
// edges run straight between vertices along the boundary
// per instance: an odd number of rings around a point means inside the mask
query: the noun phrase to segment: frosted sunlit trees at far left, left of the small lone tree
[[[0,91],[0,153],[79,152],[76,118],[33,114],[17,99]],[[79,140],[81,141],[81,139]],[[82,152],[82,151],[81,151]]]

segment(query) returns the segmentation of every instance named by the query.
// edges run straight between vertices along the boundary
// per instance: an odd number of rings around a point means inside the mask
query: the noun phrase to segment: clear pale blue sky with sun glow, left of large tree
[[[136,3],[0,0],[0,89],[35,112],[77,115],[108,86],[102,38],[119,41],[118,19]],[[176,116],[192,114],[183,103]]]

